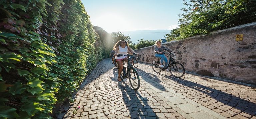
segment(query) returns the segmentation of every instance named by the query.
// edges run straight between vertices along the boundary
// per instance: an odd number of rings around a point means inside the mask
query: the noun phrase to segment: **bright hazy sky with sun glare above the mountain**
[[[182,0],[82,0],[93,25],[107,32],[172,30],[178,26]]]

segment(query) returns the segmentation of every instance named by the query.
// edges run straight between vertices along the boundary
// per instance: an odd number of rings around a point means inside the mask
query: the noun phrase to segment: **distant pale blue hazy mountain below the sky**
[[[132,43],[138,43],[137,40],[142,38],[144,38],[144,40],[159,40],[170,32],[171,30],[135,30],[124,31],[122,33],[124,33],[125,36],[130,36]]]

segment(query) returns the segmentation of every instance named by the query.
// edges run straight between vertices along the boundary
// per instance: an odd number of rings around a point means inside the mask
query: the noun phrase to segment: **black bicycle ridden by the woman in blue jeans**
[[[176,78],[180,78],[185,74],[185,68],[184,66],[175,61],[175,59],[172,57],[172,55],[176,52],[163,52],[164,54],[169,54],[170,59],[168,62],[167,67],[160,67],[160,60],[153,60],[152,62],[152,68],[156,73],[161,72],[162,70],[166,70],[167,68],[169,68],[170,73],[172,74],[172,76],[176,77]]]

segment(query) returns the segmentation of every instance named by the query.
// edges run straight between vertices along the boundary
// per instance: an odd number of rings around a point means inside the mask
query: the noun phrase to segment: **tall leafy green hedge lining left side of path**
[[[80,0],[0,0],[0,118],[52,118],[102,59]]]

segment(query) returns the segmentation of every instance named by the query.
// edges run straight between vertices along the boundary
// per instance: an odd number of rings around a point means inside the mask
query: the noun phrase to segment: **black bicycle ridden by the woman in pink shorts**
[[[132,66],[132,64],[130,63],[130,59],[129,57],[130,56],[133,56],[133,55],[122,55],[122,54],[119,54],[117,56],[127,56],[128,58],[128,66],[127,66],[127,70],[125,71],[126,67],[125,67],[125,64],[124,64],[124,60],[123,60],[123,70],[121,72],[121,80],[124,80],[125,78],[128,77],[129,79],[129,82],[132,86],[132,89],[134,90],[137,90],[140,88],[140,77],[139,77],[139,74],[138,72],[136,71],[136,69]]]

